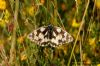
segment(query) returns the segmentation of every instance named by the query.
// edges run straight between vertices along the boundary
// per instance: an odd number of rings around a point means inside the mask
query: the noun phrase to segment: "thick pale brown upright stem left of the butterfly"
[[[19,9],[19,0],[15,0],[15,12],[14,12],[14,29],[12,35],[12,43],[10,49],[10,64],[15,66],[16,63],[16,28],[17,28],[17,17],[18,17],[18,9]]]

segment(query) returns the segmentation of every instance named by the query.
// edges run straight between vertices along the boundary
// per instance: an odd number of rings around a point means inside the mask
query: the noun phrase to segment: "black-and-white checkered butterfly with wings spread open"
[[[28,36],[32,42],[40,46],[56,47],[73,41],[73,37],[60,27],[48,25],[33,30]]]

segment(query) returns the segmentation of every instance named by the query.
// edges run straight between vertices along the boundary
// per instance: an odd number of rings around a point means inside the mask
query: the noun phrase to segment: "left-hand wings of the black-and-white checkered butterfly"
[[[41,46],[46,46],[48,43],[48,39],[47,39],[47,28],[46,27],[40,27],[36,30],[33,30],[33,32],[31,32],[28,35],[28,38],[32,41],[35,42],[38,45]]]

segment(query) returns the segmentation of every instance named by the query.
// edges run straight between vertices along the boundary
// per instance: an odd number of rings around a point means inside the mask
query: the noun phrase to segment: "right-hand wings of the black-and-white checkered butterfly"
[[[54,27],[53,36],[54,38],[51,39],[52,46],[59,46],[73,41],[72,36],[60,27]]]

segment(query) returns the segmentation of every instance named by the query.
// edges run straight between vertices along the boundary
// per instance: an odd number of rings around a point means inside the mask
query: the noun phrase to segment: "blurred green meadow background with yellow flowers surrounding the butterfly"
[[[74,41],[52,48],[27,39],[49,24]],[[0,66],[100,66],[100,0],[0,0]]]

